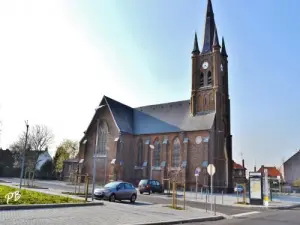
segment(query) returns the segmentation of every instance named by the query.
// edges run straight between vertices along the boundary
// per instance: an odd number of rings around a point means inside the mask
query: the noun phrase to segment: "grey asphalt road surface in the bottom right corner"
[[[260,214],[216,222],[189,223],[188,225],[299,225],[300,209],[268,211]]]

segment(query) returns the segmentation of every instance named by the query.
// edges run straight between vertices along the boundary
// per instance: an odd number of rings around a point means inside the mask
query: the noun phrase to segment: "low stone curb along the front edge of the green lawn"
[[[95,203],[62,203],[62,204],[33,204],[33,205],[1,205],[0,211],[5,210],[26,210],[26,209],[48,209],[48,208],[67,208],[79,206],[99,206],[104,205],[103,202]]]

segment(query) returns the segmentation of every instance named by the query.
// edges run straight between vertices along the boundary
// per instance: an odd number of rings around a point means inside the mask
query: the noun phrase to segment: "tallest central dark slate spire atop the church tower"
[[[212,8],[211,0],[207,0],[202,54],[212,52],[214,33],[215,33],[214,12]]]

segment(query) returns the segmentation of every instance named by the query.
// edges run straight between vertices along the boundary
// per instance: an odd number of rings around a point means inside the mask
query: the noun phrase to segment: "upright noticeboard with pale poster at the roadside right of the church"
[[[249,173],[249,198],[251,205],[263,205],[262,174],[257,172]]]

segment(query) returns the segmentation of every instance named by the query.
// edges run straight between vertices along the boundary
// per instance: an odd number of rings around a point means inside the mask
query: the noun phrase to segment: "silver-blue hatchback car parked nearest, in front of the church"
[[[137,191],[130,183],[115,181],[106,184],[103,188],[96,188],[94,196],[96,199],[108,199],[110,202],[116,200],[130,200],[131,203],[134,203],[137,197]]]

